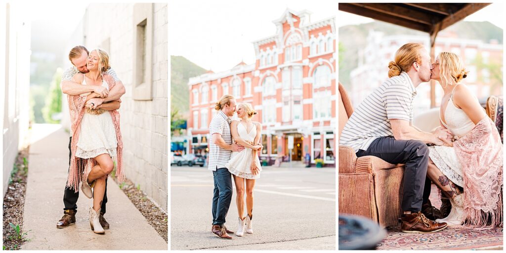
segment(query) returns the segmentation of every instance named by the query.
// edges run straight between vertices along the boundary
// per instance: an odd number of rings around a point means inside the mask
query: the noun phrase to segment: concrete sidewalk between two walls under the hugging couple
[[[167,249],[165,240],[112,179],[105,214],[110,229],[105,234],[91,230],[88,210],[93,203],[83,194],[77,201],[76,223],[56,228],[63,216],[69,134],[60,125],[34,124],[31,136],[23,214],[23,230],[29,231],[30,241],[21,249]]]

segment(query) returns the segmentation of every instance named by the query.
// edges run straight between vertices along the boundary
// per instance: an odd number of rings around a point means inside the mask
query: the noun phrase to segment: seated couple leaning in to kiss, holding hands
[[[405,164],[403,232],[502,225],[503,147],[495,124],[462,83],[467,75],[454,53],[431,62],[423,45],[405,44],[389,64],[389,79],[364,99],[342,132],[340,144],[357,157]],[[412,124],[414,97],[416,87],[431,79],[444,91],[440,126],[424,132]],[[431,181],[443,193],[443,212],[430,204]]]

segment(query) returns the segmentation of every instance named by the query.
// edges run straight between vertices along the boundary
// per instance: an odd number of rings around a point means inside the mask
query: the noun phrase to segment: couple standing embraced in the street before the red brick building
[[[251,121],[257,114],[250,104],[236,105],[235,98],[224,95],[215,105],[218,111],[209,124],[208,169],[213,171],[214,195],[212,204],[213,226],[211,231],[222,239],[232,239],[234,232],[225,226],[225,218],[232,200],[232,177],[236,188],[238,228],[235,235],[252,234],[253,188],[260,177],[262,167],[258,152],[262,125]],[[239,120],[230,117],[237,113]],[[246,192],[246,216],[244,216],[244,192]]]

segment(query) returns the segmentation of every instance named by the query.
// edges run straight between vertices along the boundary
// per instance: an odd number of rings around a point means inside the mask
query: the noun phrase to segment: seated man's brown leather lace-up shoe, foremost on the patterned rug
[[[425,217],[421,212],[407,214],[402,218],[401,230],[406,233],[433,233],[443,230],[446,223],[437,223]]]

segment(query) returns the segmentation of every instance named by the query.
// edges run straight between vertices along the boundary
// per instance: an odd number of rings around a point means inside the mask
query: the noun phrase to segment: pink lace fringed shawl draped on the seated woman
[[[502,143],[495,124],[485,117],[453,143],[462,166],[466,225],[502,226]]]

